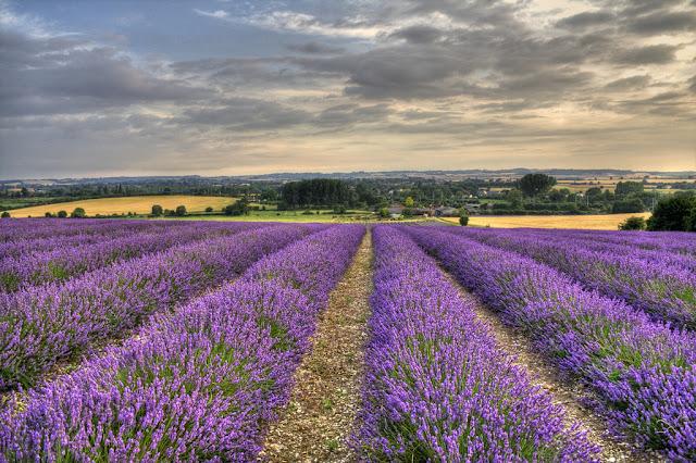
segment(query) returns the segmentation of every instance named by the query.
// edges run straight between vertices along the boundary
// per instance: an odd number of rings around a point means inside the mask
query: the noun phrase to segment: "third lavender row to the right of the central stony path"
[[[696,272],[692,270],[692,256],[666,254],[662,259],[647,259],[639,249],[596,246],[573,239],[568,232],[455,227],[448,232],[513,250],[559,268],[588,288],[622,299],[654,320],[696,329]]]

